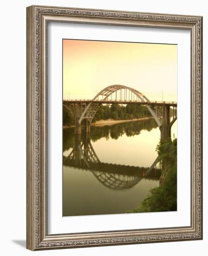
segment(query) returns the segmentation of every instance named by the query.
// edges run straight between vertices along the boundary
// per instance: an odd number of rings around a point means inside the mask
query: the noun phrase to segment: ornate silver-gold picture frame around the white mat
[[[48,198],[48,25],[176,29],[190,32],[190,225],[162,228],[49,233]],[[127,40],[127,39],[126,39]],[[180,110],[179,110],[180,111]],[[60,166],[62,172],[62,166]],[[27,242],[30,250],[157,243],[202,239],[202,17],[27,7]]]

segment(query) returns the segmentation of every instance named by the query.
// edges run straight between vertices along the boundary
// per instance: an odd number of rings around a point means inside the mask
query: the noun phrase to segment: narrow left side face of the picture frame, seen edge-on
[[[35,249],[35,156],[34,156],[34,12],[33,7],[26,8],[26,248]]]

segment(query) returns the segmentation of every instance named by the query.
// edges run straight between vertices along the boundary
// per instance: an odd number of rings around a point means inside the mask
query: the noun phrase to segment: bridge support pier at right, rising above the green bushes
[[[170,106],[163,106],[163,123],[160,126],[160,140],[164,141],[167,138],[171,138],[170,131]]]

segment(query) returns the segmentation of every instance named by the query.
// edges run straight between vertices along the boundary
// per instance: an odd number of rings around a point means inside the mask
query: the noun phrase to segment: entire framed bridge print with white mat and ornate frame
[[[27,248],[202,239],[202,17],[27,7]]]

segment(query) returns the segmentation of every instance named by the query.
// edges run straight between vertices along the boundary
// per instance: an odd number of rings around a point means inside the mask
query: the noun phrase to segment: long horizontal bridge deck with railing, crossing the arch
[[[170,106],[170,107],[177,107],[176,101],[133,101],[133,100],[126,100],[126,101],[116,101],[116,100],[63,100],[63,104],[70,104],[70,103],[98,103],[98,104],[139,104],[139,105],[151,105],[151,106]]]

